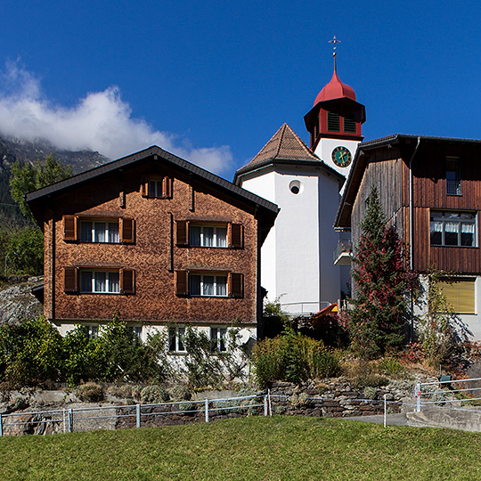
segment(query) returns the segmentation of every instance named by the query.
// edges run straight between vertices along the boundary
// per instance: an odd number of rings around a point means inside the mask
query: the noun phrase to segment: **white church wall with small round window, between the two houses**
[[[336,302],[340,273],[333,264],[338,233],[338,179],[322,167],[277,166],[249,173],[241,186],[276,203],[281,211],[261,252],[261,285],[268,298],[281,297],[285,310],[317,312]],[[300,192],[289,184],[298,181]],[[301,303],[312,303],[301,306]]]

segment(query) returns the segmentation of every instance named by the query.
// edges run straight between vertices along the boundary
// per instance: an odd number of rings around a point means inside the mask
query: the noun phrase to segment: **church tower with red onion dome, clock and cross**
[[[340,174],[349,175],[358,143],[363,141],[362,125],[366,119],[364,106],[356,102],[355,91],[343,84],[336,66],[334,44],[334,73],[314,101],[314,107],[306,113],[304,121],[310,134],[310,147],[328,166]]]

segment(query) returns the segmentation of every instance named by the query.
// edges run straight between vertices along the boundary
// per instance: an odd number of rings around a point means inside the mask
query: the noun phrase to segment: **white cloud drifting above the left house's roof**
[[[60,149],[99,151],[110,159],[156,144],[216,174],[232,168],[229,146],[194,148],[185,139],[159,132],[131,114],[117,86],[86,94],[77,106],[65,108],[45,99],[38,79],[20,69],[18,62],[7,63],[1,74],[1,135],[44,138]]]

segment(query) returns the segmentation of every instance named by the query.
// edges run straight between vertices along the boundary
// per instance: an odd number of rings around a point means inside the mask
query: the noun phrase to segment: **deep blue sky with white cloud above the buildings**
[[[0,0],[0,135],[111,159],[158,143],[232,180],[332,75],[366,140],[480,138],[475,1]]]

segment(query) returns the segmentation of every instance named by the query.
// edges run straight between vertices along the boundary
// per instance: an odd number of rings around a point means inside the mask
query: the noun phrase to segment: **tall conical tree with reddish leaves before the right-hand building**
[[[387,227],[376,186],[371,189],[355,255],[354,308],[349,313],[351,347],[371,359],[404,343],[410,289],[418,275],[404,269],[403,243]]]

